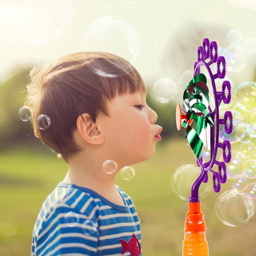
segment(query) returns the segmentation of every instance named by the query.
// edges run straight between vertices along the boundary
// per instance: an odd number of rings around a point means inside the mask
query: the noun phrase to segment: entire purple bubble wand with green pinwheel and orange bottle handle
[[[194,64],[194,77],[187,85],[183,94],[183,107],[181,113],[180,104],[176,106],[176,125],[180,130],[185,127],[185,139],[188,139],[190,147],[196,155],[196,163],[201,167],[201,173],[193,183],[191,196],[188,200],[188,212],[186,213],[184,240],[182,245],[182,256],[207,256],[209,255],[208,243],[205,238],[206,225],[204,212],[201,211],[201,204],[198,197],[199,186],[202,182],[208,182],[208,172],[212,172],[213,190],[220,192],[220,184],[227,181],[227,168],[225,163],[231,160],[231,144],[229,140],[219,142],[219,128],[224,125],[226,134],[233,131],[233,116],[231,111],[226,111],[224,119],[219,118],[219,106],[221,101],[225,104],[231,101],[231,85],[224,81],[222,91],[216,91],[214,79],[224,78],[226,75],[226,60],[223,56],[218,57],[218,46],[215,41],[209,42],[204,38],[203,46],[197,50],[197,62]],[[210,61],[206,60],[210,57]],[[212,74],[210,65],[217,62],[217,73]],[[209,89],[206,85],[206,77],[200,73],[200,66],[204,66],[210,76],[215,109],[212,111],[209,106]],[[222,66],[222,68],[221,68]],[[228,94],[226,96],[226,93]],[[214,119],[216,118],[215,125]],[[184,120],[183,120],[184,119]],[[228,125],[229,119],[229,125]],[[183,122],[181,123],[181,120]],[[203,147],[210,152],[210,160],[203,163]],[[222,149],[224,162],[216,160],[218,148]],[[228,154],[226,153],[228,151]],[[212,170],[213,165],[218,166],[218,172]]]

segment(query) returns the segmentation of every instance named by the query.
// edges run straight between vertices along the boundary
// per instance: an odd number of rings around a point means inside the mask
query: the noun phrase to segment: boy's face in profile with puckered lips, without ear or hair
[[[143,105],[138,106],[138,105]],[[109,115],[99,115],[98,129],[104,136],[106,150],[124,166],[150,158],[158,141],[155,135],[162,128],[156,125],[156,112],[146,103],[146,93],[135,92],[116,96],[108,101]]]

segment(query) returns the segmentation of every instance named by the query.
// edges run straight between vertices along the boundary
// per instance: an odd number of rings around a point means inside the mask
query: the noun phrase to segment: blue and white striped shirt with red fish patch
[[[114,204],[92,189],[60,181],[38,213],[32,256],[142,256],[140,218],[131,197],[115,187],[125,205]]]

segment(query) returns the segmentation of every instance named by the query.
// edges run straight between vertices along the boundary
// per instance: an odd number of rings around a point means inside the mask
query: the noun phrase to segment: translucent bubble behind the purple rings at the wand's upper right
[[[232,52],[228,51],[228,49],[223,48],[223,47],[218,47],[218,56],[223,56],[225,58],[226,61],[226,74],[225,74],[225,78],[223,78],[224,80],[228,80],[227,78],[230,77],[234,71],[232,71],[232,66],[233,65],[233,59],[234,56],[232,54]],[[217,62],[214,62],[210,65],[210,69],[212,71],[212,74],[216,74],[217,73]],[[207,78],[210,79],[210,75],[208,70],[202,65],[200,66],[200,73],[203,73]],[[220,79],[220,78],[218,78]],[[217,79],[216,79],[217,80]]]

